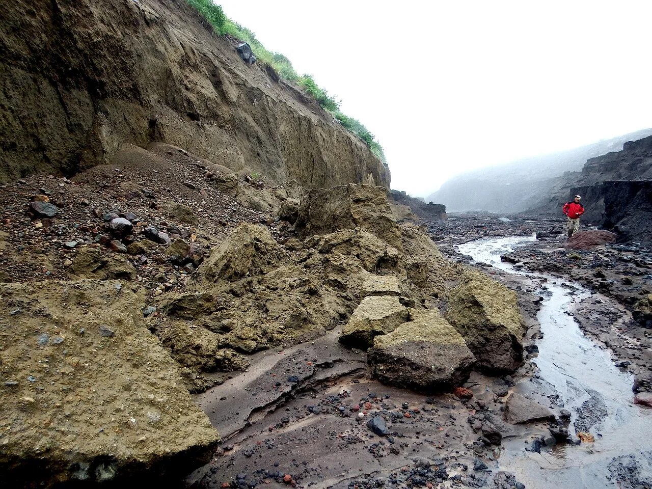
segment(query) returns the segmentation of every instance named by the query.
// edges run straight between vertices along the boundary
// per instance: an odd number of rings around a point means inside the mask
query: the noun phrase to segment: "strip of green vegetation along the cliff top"
[[[342,126],[363,140],[372,153],[378,156],[383,164],[387,165],[385,152],[380,143],[376,141],[376,137],[367,130],[363,123],[342,113],[340,111],[340,101],[333,95],[329,95],[329,93],[323,88],[319,87],[312,75],[304,74],[300,76],[285,55],[271,52],[265,48],[265,46],[256,39],[256,35],[252,31],[243,27],[239,23],[230,20],[230,18],[224,14],[222,7],[215,5],[212,0],[186,1],[213,26],[216,33],[219,35],[228,34],[246,42],[251,46],[251,50],[256,55],[256,58],[258,58],[258,61],[270,65],[274,70],[276,70],[281,78],[297,83],[297,85],[303,88],[305,93],[314,96],[315,100],[317,100],[324,110],[329,111],[334,119],[339,121]]]

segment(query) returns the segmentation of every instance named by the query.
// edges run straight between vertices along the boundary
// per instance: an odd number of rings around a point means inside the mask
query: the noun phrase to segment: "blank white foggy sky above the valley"
[[[215,3],[341,98],[413,196],[652,126],[652,2]]]

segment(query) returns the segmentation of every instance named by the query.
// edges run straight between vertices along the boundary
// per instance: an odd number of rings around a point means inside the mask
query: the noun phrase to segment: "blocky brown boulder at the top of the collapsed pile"
[[[310,190],[299,205],[297,231],[310,236],[360,228],[400,250],[401,232],[385,192],[382,187],[353,183]]]

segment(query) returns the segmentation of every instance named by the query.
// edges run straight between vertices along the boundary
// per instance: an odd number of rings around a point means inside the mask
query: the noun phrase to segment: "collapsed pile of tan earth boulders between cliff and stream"
[[[292,237],[243,224],[158,304],[165,320],[153,330],[190,370],[191,391],[205,389],[205,372],[242,368],[248,353],[337,327],[342,344],[368,351],[374,376],[417,391],[451,391],[474,365],[522,364],[516,295],[396,222],[384,188],[312,190],[282,217]]]

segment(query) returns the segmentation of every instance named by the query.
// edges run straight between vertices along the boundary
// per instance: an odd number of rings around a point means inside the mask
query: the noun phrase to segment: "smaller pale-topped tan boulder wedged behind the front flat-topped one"
[[[370,348],[376,336],[391,333],[408,319],[409,309],[398,297],[365,297],[342,329],[340,343],[349,348]]]

